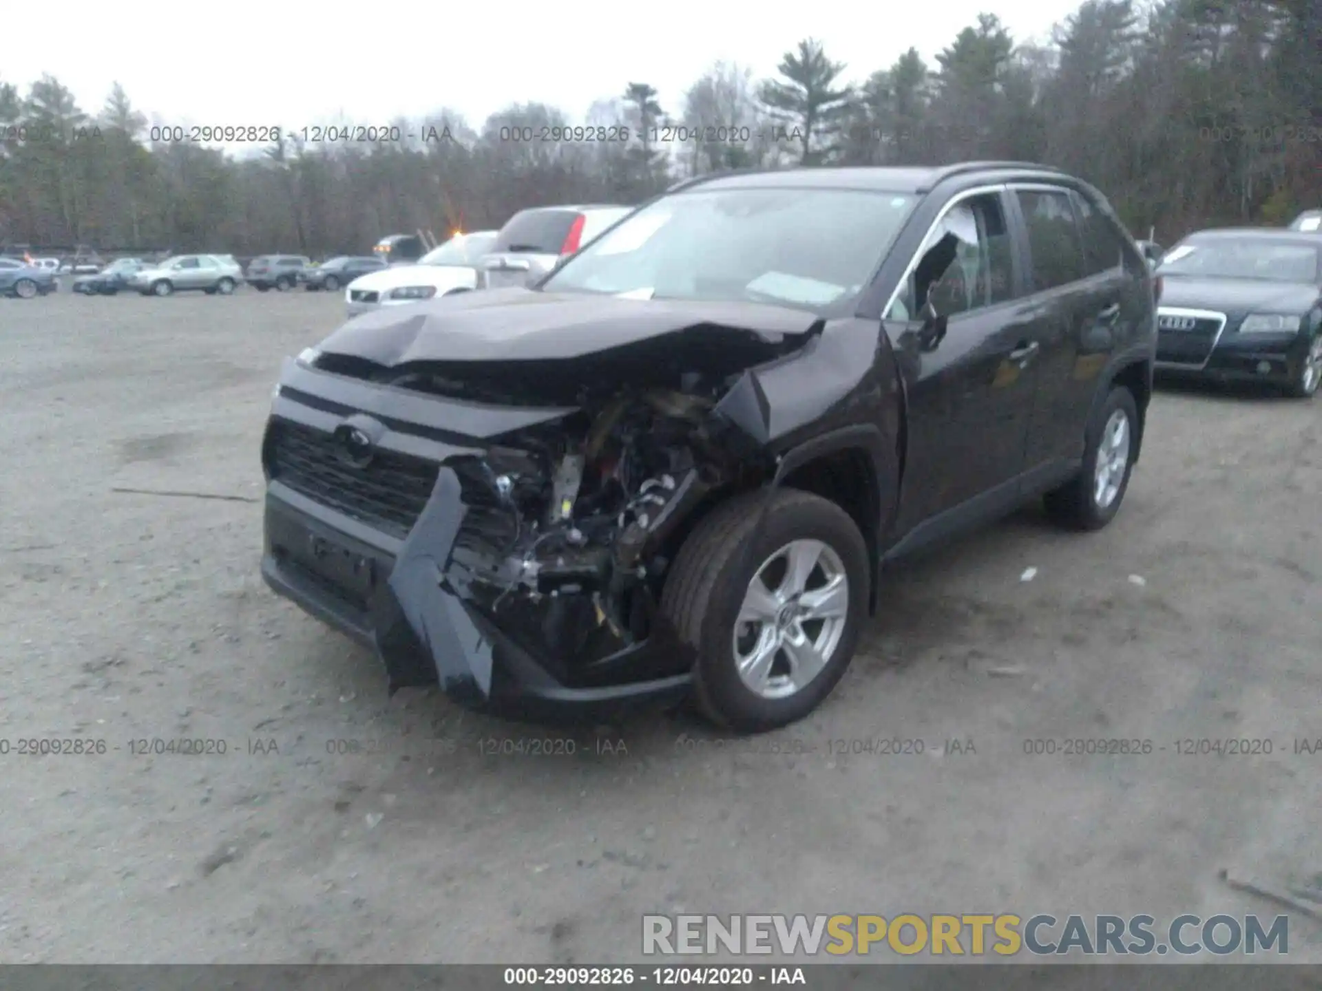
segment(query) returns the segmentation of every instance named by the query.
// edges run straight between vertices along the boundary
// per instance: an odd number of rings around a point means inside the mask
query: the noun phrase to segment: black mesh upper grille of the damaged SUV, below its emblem
[[[438,465],[378,451],[366,468],[340,460],[334,437],[290,420],[271,424],[271,477],[323,506],[403,539],[436,488]]]

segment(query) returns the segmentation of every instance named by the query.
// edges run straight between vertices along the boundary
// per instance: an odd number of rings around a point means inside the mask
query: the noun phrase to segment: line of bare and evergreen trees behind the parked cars
[[[1318,0],[1087,0],[1046,44],[986,13],[935,63],[910,49],[862,79],[809,38],[769,79],[718,62],[673,107],[628,82],[576,120],[529,102],[480,126],[443,106],[370,132],[254,122],[229,152],[118,85],[90,111],[50,75],[0,81],[0,243],[361,254],[709,172],[970,159],[1064,168],[1170,243],[1322,206],[1319,46]]]

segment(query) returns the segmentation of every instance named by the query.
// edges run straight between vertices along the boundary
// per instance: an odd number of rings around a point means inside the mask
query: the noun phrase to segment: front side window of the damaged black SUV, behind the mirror
[[[928,237],[886,320],[953,317],[1014,299],[1009,229],[995,193],[951,207]]]

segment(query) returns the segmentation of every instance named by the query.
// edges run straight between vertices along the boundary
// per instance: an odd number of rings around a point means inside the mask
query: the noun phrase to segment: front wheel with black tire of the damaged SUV
[[[853,659],[870,571],[854,521],[820,495],[758,492],[713,510],[680,548],[661,597],[697,654],[702,714],[764,732],[817,708]]]

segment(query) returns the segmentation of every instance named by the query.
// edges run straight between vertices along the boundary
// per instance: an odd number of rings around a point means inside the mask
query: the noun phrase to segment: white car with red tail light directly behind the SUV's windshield
[[[479,285],[530,285],[633,210],[632,206],[537,206],[514,214],[483,263]]]

